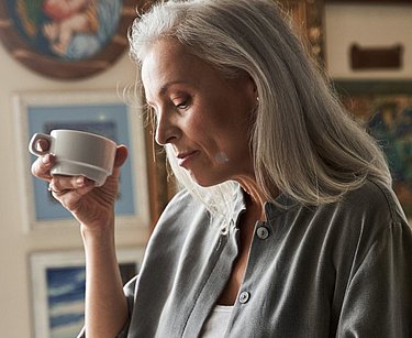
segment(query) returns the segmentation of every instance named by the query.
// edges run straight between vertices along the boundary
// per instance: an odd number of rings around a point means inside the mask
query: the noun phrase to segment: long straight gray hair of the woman
[[[160,39],[176,39],[223,76],[250,75],[259,99],[250,146],[268,200],[280,189],[301,204],[320,205],[367,177],[391,185],[379,146],[342,108],[272,0],[162,2],[135,20],[131,56],[141,64]],[[199,187],[168,157],[181,184],[211,210],[227,212],[233,182]]]

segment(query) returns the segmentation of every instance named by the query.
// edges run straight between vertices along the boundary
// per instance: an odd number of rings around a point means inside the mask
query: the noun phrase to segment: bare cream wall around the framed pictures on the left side
[[[14,61],[0,44],[0,336],[31,337],[31,290],[27,257],[33,251],[80,249],[77,227],[62,231],[24,232],[22,196],[15,148],[14,111],[11,98],[22,90],[111,89],[134,81],[134,66],[125,55],[109,70],[85,80],[62,81],[42,77]],[[29,171],[30,168],[27,168]],[[146,230],[123,229],[119,246],[138,246]]]

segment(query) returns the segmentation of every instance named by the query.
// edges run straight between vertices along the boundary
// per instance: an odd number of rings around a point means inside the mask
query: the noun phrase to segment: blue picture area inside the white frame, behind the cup
[[[36,132],[49,133],[53,129],[80,130],[101,134],[118,144],[131,148],[129,111],[125,103],[29,106],[27,119],[30,135]],[[131,156],[133,155],[131,153]],[[35,156],[32,155],[31,162],[34,160]],[[115,204],[116,215],[132,216],[137,212],[131,163],[132,161],[126,161],[122,166],[120,195]],[[47,183],[34,176],[32,183],[37,221],[71,218],[71,215],[51,197]]]

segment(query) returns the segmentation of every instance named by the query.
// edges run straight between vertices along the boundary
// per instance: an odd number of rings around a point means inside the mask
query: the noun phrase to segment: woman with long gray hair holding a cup
[[[154,6],[131,55],[182,189],[122,290],[102,187],[33,164],[81,225],[87,337],[410,337],[412,232],[383,155],[271,0]]]

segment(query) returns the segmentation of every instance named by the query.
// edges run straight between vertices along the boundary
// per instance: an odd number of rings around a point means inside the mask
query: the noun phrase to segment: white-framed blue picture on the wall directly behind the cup
[[[101,134],[129,148],[122,166],[115,204],[120,225],[146,226],[149,221],[144,118],[115,90],[20,92],[14,97],[16,137],[22,168],[22,201],[29,230],[71,225],[74,218],[47,190],[48,183],[31,174],[35,156],[27,151],[31,137],[53,129]]]

